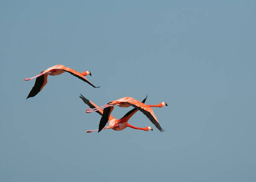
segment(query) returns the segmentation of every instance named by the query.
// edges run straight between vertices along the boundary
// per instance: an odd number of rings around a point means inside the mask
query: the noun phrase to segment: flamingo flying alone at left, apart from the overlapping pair
[[[36,78],[35,85],[33,86],[32,90],[29,92],[29,95],[28,95],[27,98],[34,97],[36,94],[38,94],[44,88],[44,85],[47,84],[47,76],[48,76],[48,74],[51,75],[51,76],[55,76],[55,75],[58,75],[58,74],[62,74],[65,71],[70,73],[70,74],[73,74],[75,77],[78,77],[79,79],[83,80],[84,82],[89,83],[94,88],[99,88],[99,87],[94,86],[91,82],[89,82],[89,80],[87,80],[84,77],[87,74],[92,76],[90,71],[84,71],[83,73],[79,73],[78,71],[75,71],[75,70],[73,70],[71,68],[68,68],[68,67],[66,67],[64,65],[55,65],[55,66],[52,66],[52,67],[48,68],[45,71],[42,71],[40,74],[36,75],[35,77],[25,78],[24,79],[25,81],[27,81],[27,80],[32,80],[32,79]]]

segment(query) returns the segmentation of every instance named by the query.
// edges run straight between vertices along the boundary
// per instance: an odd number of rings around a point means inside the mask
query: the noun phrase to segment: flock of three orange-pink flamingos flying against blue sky
[[[55,66],[52,66],[52,67],[46,69],[45,71],[42,71],[40,74],[38,74],[34,77],[24,79],[25,81],[27,81],[27,80],[32,80],[32,79],[36,78],[35,85],[29,92],[29,95],[26,97],[26,99],[28,99],[30,97],[35,97],[44,88],[44,86],[47,84],[48,75],[55,76],[55,75],[62,74],[64,72],[68,72],[68,73],[72,74],[73,76],[78,77],[79,79],[83,80],[84,82],[87,82],[89,85],[93,86],[94,88],[99,88],[99,87],[94,86],[89,80],[87,80],[84,77],[87,74],[92,76],[90,71],[84,71],[83,73],[79,73],[78,71],[75,71],[75,70],[68,68],[64,65],[55,65]],[[103,129],[113,129],[115,131],[120,131],[127,127],[137,129],[137,130],[153,131],[153,128],[151,126],[148,126],[145,128],[139,128],[139,127],[130,125],[128,123],[128,120],[137,111],[141,111],[155,125],[155,127],[159,131],[161,131],[161,132],[164,131],[164,129],[160,126],[160,124],[157,120],[157,117],[155,116],[155,114],[152,110],[152,107],[161,108],[164,105],[167,106],[166,102],[160,102],[157,105],[146,105],[145,101],[148,96],[142,102],[135,100],[132,97],[123,97],[123,98],[108,102],[108,104],[103,105],[101,107],[98,107],[92,101],[86,99],[82,94],[79,97],[84,101],[85,104],[87,104],[90,107],[90,109],[85,109],[86,113],[97,112],[98,114],[100,114],[102,116],[99,121],[99,128],[96,130],[87,130],[86,133],[91,133],[94,131],[98,131],[98,133],[99,133]],[[119,106],[122,108],[127,108],[127,107],[132,106],[133,109],[128,111],[121,119],[116,119],[113,116],[111,116],[111,112],[113,111],[114,106]],[[107,123],[109,123],[108,126],[106,126]]]

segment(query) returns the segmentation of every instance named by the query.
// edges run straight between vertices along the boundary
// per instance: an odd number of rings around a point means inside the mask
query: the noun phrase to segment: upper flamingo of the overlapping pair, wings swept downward
[[[160,102],[157,105],[146,105],[143,102],[135,100],[132,97],[123,97],[121,99],[113,100],[111,102],[108,102],[108,104],[103,105],[103,106],[98,107],[98,108],[85,109],[85,111],[87,113],[104,109],[103,114],[102,114],[102,118],[100,119],[100,122],[99,122],[99,131],[98,132],[100,132],[105,127],[105,125],[107,124],[108,118],[110,117],[110,114],[113,111],[113,108],[114,108],[115,105],[117,105],[119,107],[124,107],[124,108],[127,108],[129,106],[133,106],[134,108],[138,109],[143,114],[145,114],[146,117],[148,117],[148,119],[157,127],[157,129],[159,129],[161,132],[164,131],[163,128],[161,128],[161,126],[160,126],[160,124],[157,120],[157,117],[154,115],[154,112],[153,112],[151,107],[161,108],[161,107],[163,107],[163,105],[167,106],[166,102]]]

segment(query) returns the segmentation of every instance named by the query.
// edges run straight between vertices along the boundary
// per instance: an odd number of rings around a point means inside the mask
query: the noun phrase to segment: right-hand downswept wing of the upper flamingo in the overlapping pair
[[[129,100],[128,102],[126,102],[127,104],[133,106],[134,108],[138,109],[139,111],[141,111],[143,114],[146,115],[146,117],[148,117],[148,119],[157,127],[157,129],[159,129],[161,132],[163,132],[163,128],[161,128],[157,117],[154,115],[154,112],[152,110],[152,108],[148,105],[145,105],[144,103],[138,101],[138,100]]]

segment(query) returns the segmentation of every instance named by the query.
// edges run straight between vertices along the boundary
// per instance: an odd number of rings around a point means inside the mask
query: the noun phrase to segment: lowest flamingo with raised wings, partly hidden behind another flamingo
[[[84,101],[84,103],[86,103],[87,105],[89,105],[90,108],[98,108],[98,106],[96,104],[94,104],[92,101],[87,100],[84,96],[80,96],[80,98]],[[142,103],[145,103],[147,97],[142,101]],[[144,131],[148,131],[148,130],[152,130],[151,126],[145,127],[145,128],[138,128],[135,126],[132,126],[128,123],[128,120],[138,111],[138,109],[133,108],[131,111],[129,111],[128,113],[126,113],[121,119],[116,119],[113,116],[109,115],[109,126],[104,127],[103,129],[113,129],[115,131],[119,131],[119,130],[123,130],[126,127],[130,127],[130,128],[134,128],[137,130],[144,130]],[[103,114],[103,110],[99,109],[98,111],[96,111],[97,113],[99,113],[101,116]],[[98,130],[87,130],[86,133],[91,133],[93,131],[99,131]]]

